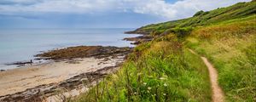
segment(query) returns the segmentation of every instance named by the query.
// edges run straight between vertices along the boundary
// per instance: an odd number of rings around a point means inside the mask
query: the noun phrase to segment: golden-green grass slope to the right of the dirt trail
[[[206,55],[218,69],[228,101],[256,100],[256,16],[201,27],[187,38],[189,48]]]

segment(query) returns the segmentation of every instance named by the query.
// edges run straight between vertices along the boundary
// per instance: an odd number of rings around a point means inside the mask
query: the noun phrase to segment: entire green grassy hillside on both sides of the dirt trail
[[[137,29],[138,45],[122,68],[72,101],[210,102],[206,56],[218,69],[226,101],[256,101],[256,3],[198,12],[194,17]]]

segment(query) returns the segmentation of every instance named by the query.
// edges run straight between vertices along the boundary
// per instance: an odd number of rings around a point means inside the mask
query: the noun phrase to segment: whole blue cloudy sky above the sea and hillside
[[[0,0],[0,28],[137,28],[251,0]]]

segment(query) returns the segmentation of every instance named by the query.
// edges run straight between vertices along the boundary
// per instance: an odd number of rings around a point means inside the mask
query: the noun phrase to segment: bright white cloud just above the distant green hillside
[[[207,11],[248,1],[250,0],[183,0],[166,3],[161,0],[147,0],[136,5],[133,11],[142,14],[155,14],[173,20],[189,17],[199,10]]]

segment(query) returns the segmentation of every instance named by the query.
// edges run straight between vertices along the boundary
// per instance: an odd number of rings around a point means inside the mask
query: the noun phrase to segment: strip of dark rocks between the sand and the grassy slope
[[[50,83],[40,85],[35,88],[28,88],[23,92],[19,92],[16,94],[8,94],[4,96],[0,96],[0,100],[2,102],[41,102],[47,101],[46,99],[49,96],[55,95],[56,93],[65,90],[73,90],[75,88],[79,88],[80,85],[87,85],[92,82],[97,82],[103,77],[106,77],[108,74],[117,71],[119,65],[108,66],[103,69],[87,72],[80,74],[78,76],[67,79],[61,83]],[[87,85],[88,86],[88,85]]]

